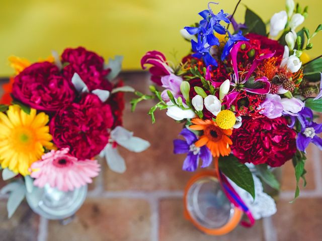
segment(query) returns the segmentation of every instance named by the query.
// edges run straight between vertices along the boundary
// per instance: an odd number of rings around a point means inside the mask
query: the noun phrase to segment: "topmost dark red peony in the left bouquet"
[[[90,91],[94,89],[111,90],[112,84],[106,78],[110,69],[104,69],[104,59],[94,52],[83,47],[65,49],[61,55],[63,75],[71,81],[74,73],[77,73],[86,83]]]

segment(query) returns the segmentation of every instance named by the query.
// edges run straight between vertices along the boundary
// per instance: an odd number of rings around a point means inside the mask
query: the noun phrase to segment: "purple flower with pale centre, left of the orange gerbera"
[[[208,167],[212,161],[209,149],[206,146],[196,147],[195,142],[198,141],[197,136],[186,128],[181,131],[180,135],[182,135],[186,141],[174,140],[173,144],[175,154],[188,153],[182,169],[190,172],[195,171],[198,167],[199,158],[202,160],[201,167]]]

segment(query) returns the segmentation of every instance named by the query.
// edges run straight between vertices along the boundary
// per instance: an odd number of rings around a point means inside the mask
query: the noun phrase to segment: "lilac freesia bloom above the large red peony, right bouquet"
[[[268,94],[266,99],[259,106],[261,114],[270,119],[275,119],[282,116],[283,105],[281,104],[281,97],[278,94]]]

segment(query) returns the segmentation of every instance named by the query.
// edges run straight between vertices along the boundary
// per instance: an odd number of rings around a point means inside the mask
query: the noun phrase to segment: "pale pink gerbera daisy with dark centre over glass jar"
[[[44,154],[40,161],[31,165],[31,177],[34,185],[44,187],[47,183],[61,191],[72,191],[75,188],[92,183],[98,176],[100,165],[96,160],[79,160],[69,153],[69,148],[52,150]]]

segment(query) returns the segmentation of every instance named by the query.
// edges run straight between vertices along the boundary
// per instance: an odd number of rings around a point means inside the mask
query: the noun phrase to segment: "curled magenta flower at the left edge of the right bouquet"
[[[149,51],[141,59],[142,69],[146,69],[145,64],[150,64],[149,72],[151,73],[151,80],[162,85],[161,77],[170,75],[175,71],[167,64],[165,55],[158,51]]]

